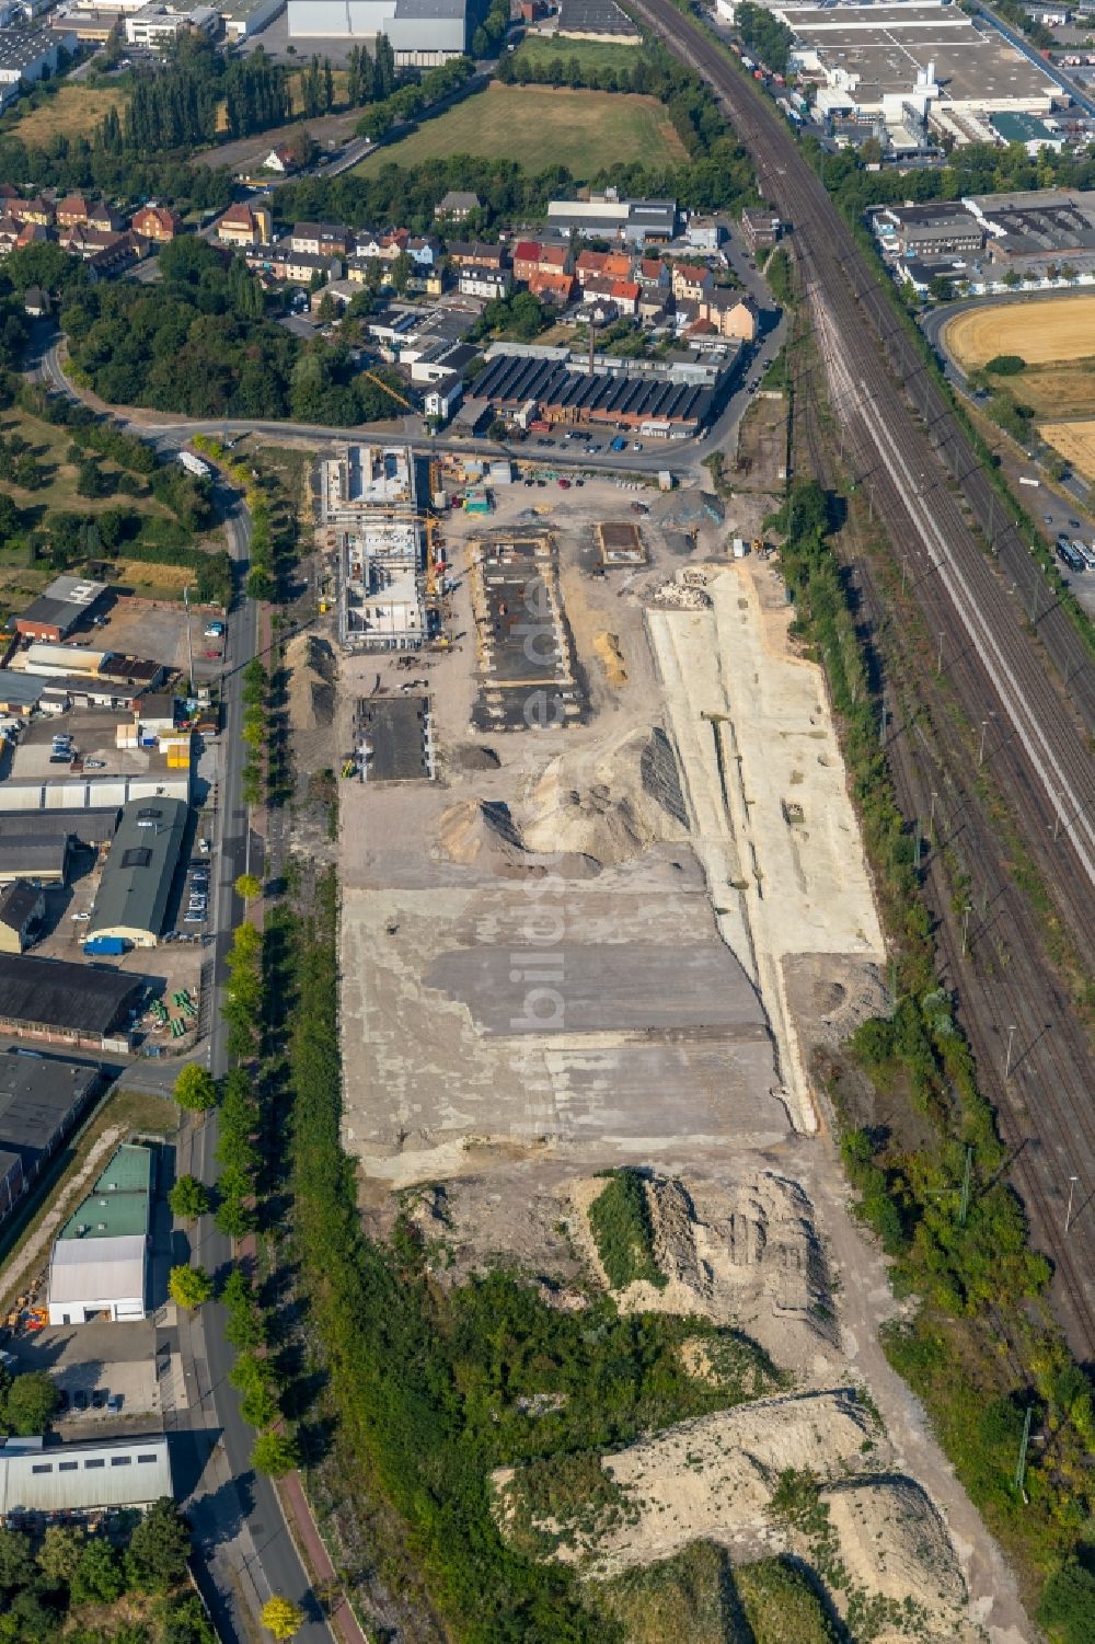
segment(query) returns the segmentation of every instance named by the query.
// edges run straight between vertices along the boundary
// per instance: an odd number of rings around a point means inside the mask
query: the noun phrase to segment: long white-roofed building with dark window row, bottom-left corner
[[[173,1493],[163,1434],[49,1445],[36,1435],[0,1445],[0,1524],[7,1527],[146,1511]]]

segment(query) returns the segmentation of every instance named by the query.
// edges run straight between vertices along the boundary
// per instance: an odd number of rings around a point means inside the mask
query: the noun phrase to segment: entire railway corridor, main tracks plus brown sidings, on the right
[[[968,727],[982,727],[985,758],[1023,842],[1057,894],[1080,962],[1095,968],[1095,764],[1088,748],[1095,671],[783,120],[669,0],[636,0],[636,10],[722,97],[740,141],[753,153],[758,187],[792,225],[845,455],[904,562],[929,633],[939,636],[940,672],[954,700],[945,699],[942,682],[932,690],[931,677],[922,677],[922,663],[914,664],[911,640],[896,631],[899,623],[870,567],[857,567],[868,625],[875,636],[886,630],[888,653],[896,658],[894,684],[899,677],[903,695],[924,700],[932,718],[934,737],[922,738],[914,715],[899,715],[888,751],[908,820],[927,820],[934,809],[947,829],[926,865],[942,977],[959,996],[982,1085],[1000,1113],[1034,1240],[1056,1264],[1060,1322],[1074,1350],[1090,1356],[1092,1052],[1044,958],[1037,922],[998,827],[968,781],[977,753],[967,738]],[[822,462],[820,449],[814,460]],[[955,723],[955,700],[965,728]],[[968,916],[952,906],[944,843],[970,876]],[[1079,1177],[1079,1192],[1065,1240],[1070,1175]]]

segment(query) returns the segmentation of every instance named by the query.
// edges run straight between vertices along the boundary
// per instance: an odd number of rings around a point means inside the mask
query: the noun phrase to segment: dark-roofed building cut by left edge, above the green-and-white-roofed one
[[[0,1049],[0,1218],[72,1134],[100,1080],[94,1064]]]

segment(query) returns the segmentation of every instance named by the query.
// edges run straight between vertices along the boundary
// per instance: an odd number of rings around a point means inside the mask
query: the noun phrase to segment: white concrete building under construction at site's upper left
[[[319,524],[335,552],[339,641],[416,651],[426,638],[423,518],[406,446],[347,446],[321,464]]]

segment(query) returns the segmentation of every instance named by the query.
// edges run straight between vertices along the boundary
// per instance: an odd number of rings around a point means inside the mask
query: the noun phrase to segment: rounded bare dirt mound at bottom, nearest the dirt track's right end
[[[965,1583],[947,1527],[921,1486],[909,1478],[880,1478],[835,1485],[822,1499],[852,1580],[870,1596],[919,1605],[931,1629],[919,1637],[959,1637]],[[883,1624],[873,1636],[904,1639],[908,1626]]]

